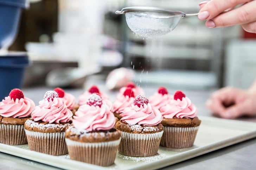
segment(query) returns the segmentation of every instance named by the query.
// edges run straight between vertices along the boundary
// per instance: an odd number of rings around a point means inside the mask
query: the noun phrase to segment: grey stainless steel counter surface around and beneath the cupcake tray
[[[95,83],[98,84],[98,83]],[[103,84],[99,85],[102,91],[104,90]],[[168,88],[168,87],[167,87]],[[156,91],[157,87],[147,86],[144,88],[147,96],[152,95],[154,91]],[[172,88],[168,88],[172,89]],[[30,88],[24,89],[24,95],[26,97],[31,98],[36,105],[40,100],[42,100],[45,92],[47,90],[51,90],[49,88]],[[176,89],[170,90],[170,93],[174,93]],[[191,101],[196,104],[198,107],[199,113],[198,116],[212,116],[211,112],[205,108],[205,101],[209,97],[209,95],[215,89],[204,90],[204,91],[193,91],[193,90],[183,90],[186,96],[190,97]],[[72,93],[76,97],[79,94],[83,93],[82,89],[74,89],[74,90],[65,90],[66,92]],[[110,100],[114,100],[117,92],[109,92]],[[256,122],[256,117],[243,117],[238,120],[242,121],[250,121]],[[175,170],[198,170],[198,169],[207,169],[207,170],[216,170],[216,169],[225,169],[225,170],[233,170],[233,169],[245,169],[251,170],[256,167],[256,138],[245,141],[242,143],[238,143],[232,145],[230,147],[226,147],[223,149],[219,149],[217,151],[210,152],[205,155],[198,156],[196,158],[189,159],[184,162],[180,162],[171,166],[167,166],[163,168],[163,170],[167,169],[175,169]],[[41,164],[38,162],[33,162],[28,159],[4,154],[0,152],[0,170],[34,170],[34,169],[47,169],[47,170],[57,170],[58,168],[48,166],[45,164]]]

